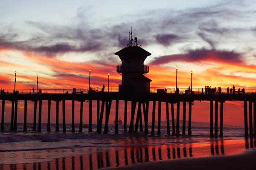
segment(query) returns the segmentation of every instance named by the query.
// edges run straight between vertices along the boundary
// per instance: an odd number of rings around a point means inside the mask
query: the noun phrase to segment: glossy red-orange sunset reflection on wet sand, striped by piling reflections
[[[256,147],[256,141],[244,140],[245,148]],[[158,161],[186,157],[230,155],[234,150],[244,150],[244,144],[236,145],[230,141],[214,141],[192,144],[167,144],[156,146],[114,147],[113,150],[96,152],[85,155],[70,156],[54,159],[48,162],[32,164],[1,165],[0,170],[94,170],[103,167],[119,167],[147,161]],[[234,147],[236,146],[236,147]],[[225,150],[224,150],[225,147]]]

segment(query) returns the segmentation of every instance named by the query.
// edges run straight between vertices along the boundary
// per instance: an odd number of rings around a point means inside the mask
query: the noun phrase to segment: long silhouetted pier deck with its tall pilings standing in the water
[[[49,91],[49,90],[48,90]],[[65,92],[65,91],[64,91]],[[152,110],[152,128],[151,135],[154,135],[154,125],[155,125],[155,108],[158,103],[158,117],[157,117],[157,135],[161,135],[161,102],[166,105],[166,120],[167,120],[167,135],[170,135],[170,125],[169,125],[169,105],[171,106],[171,119],[172,119],[172,135],[180,136],[180,102],[183,102],[183,125],[182,125],[182,136],[192,135],[191,121],[192,121],[192,102],[194,101],[209,101],[210,110],[210,123],[209,123],[209,136],[210,137],[222,137],[223,134],[223,108],[225,101],[243,101],[244,102],[244,137],[245,138],[255,138],[256,137],[256,94],[255,93],[245,93],[245,94],[174,94],[174,93],[149,93],[149,92],[134,92],[134,91],[121,91],[121,92],[95,92],[95,93],[77,93],[77,94],[65,94],[65,93],[47,93],[45,91],[42,94],[31,94],[31,93],[20,93],[20,94],[0,94],[0,100],[2,100],[2,119],[1,119],[1,131],[4,128],[5,120],[5,101],[12,102],[12,113],[11,113],[11,127],[10,130],[17,131],[17,107],[18,102],[24,100],[24,127],[23,130],[26,131],[26,119],[27,119],[27,101],[34,102],[34,121],[33,130],[41,132],[41,116],[42,116],[42,101],[48,101],[48,119],[47,119],[47,131],[50,129],[50,115],[51,115],[51,102],[56,102],[56,129],[59,131],[59,102],[62,101],[62,115],[63,115],[63,133],[66,133],[66,120],[65,120],[65,101],[72,101],[72,132],[76,132],[75,129],[75,101],[80,102],[80,126],[79,132],[82,132],[82,119],[83,119],[83,103],[89,101],[89,128],[88,132],[92,132],[92,104],[97,102],[97,133],[102,133],[102,120],[104,116],[105,108],[105,127],[103,133],[108,133],[108,121],[111,111],[112,101],[116,102],[116,115],[115,115],[115,133],[118,131],[118,117],[119,117],[119,101],[125,102],[124,111],[124,132],[127,131],[127,102],[131,101],[131,118],[129,133],[138,132],[138,127],[140,126],[140,131],[148,134],[148,112],[149,102],[153,102]],[[39,102],[39,108],[37,110],[37,102]],[[186,102],[189,104],[189,126],[188,133],[186,134]],[[213,102],[215,103],[215,128],[213,129]],[[249,133],[248,133],[248,112],[247,112],[247,102],[249,102]],[[100,106],[101,103],[101,106]],[[220,103],[220,131],[218,134],[218,103]],[[177,123],[175,130],[174,123],[174,105],[177,106]],[[137,110],[137,111],[136,111]],[[36,127],[36,116],[38,113],[38,127]],[[144,122],[143,118],[144,117]],[[134,118],[135,129],[134,129]],[[144,130],[142,124],[145,125]],[[254,132],[254,133],[253,133]]]

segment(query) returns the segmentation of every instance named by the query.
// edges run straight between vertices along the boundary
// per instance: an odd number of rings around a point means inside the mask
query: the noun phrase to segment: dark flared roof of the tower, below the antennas
[[[118,55],[122,61],[125,60],[125,58],[139,58],[144,61],[151,55],[151,53],[138,46],[125,47],[122,50],[117,51],[115,54]]]

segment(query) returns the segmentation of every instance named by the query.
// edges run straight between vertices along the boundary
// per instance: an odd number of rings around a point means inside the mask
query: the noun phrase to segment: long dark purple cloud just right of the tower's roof
[[[189,50],[186,54],[173,54],[161,57],[155,57],[150,63],[152,65],[166,64],[172,61],[183,62],[226,62],[226,63],[239,63],[242,64],[243,57],[241,53],[228,50],[215,50],[215,49],[196,49]]]

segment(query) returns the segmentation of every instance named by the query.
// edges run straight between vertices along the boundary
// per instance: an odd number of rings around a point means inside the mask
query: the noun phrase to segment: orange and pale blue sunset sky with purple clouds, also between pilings
[[[89,69],[92,88],[107,85],[108,73],[110,86],[116,87],[121,84],[121,76],[116,73],[121,60],[114,53],[126,47],[131,27],[139,45],[152,54],[145,60],[151,87],[175,88],[176,66],[179,88],[188,88],[191,70],[194,89],[205,85],[255,87],[255,9],[255,0],[2,1],[0,88],[14,89],[17,71],[18,90],[35,88],[37,74],[40,89],[87,89]],[[114,120],[114,103],[110,122]],[[33,104],[28,104],[28,122],[32,122]],[[46,122],[47,101],[43,105],[42,122]],[[71,102],[66,105],[70,123]],[[123,102],[120,105],[122,118]],[[18,122],[23,122],[23,106],[20,101]],[[85,102],[85,123],[87,106]],[[96,111],[96,102],[93,106]],[[10,108],[11,102],[6,102],[5,122],[10,122]],[[162,110],[164,120],[164,103]],[[79,122],[79,103],[75,120]],[[192,121],[209,122],[209,102],[195,102]],[[243,125],[241,102],[224,103],[224,124]]]

